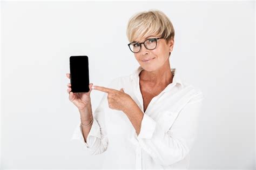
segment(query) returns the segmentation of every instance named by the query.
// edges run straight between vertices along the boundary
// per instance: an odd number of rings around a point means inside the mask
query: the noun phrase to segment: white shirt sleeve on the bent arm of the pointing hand
[[[203,99],[200,92],[179,113],[161,113],[157,121],[144,114],[138,135],[139,145],[157,164],[172,165],[186,157],[197,137]]]

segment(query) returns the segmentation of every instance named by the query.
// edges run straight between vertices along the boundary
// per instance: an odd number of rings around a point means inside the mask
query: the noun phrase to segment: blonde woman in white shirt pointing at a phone
[[[68,84],[81,119],[72,139],[91,155],[106,151],[103,168],[188,168],[203,93],[170,67],[172,23],[159,10],[143,11],[130,18],[126,33],[140,65],[136,71],[107,87],[91,83],[87,93],[72,93]],[[95,112],[92,90],[104,92]]]

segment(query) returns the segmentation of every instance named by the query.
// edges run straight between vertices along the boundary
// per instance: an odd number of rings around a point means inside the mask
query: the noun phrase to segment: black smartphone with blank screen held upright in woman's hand
[[[70,56],[71,92],[89,92],[89,61],[87,56]]]

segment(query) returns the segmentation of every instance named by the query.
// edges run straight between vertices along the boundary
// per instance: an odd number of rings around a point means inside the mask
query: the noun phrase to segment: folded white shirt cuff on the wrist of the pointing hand
[[[140,139],[152,138],[154,130],[156,129],[156,124],[157,123],[154,119],[152,119],[149,115],[144,113],[143,119],[142,119],[142,126],[140,127],[140,132],[139,132],[138,138],[140,138]]]

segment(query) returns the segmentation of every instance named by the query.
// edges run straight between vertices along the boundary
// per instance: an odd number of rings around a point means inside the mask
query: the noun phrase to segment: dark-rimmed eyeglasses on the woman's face
[[[163,37],[161,37],[163,38]],[[133,53],[137,53],[140,51],[140,49],[142,49],[142,45],[144,44],[144,46],[146,47],[146,49],[148,50],[154,50],[157,47],[157,40],[160,38],[150,38],[150,39],[146,39],[145,42],[143,43],[137,43],[137,42],[132,42],[130,44],[128,44],[130,50]]]

